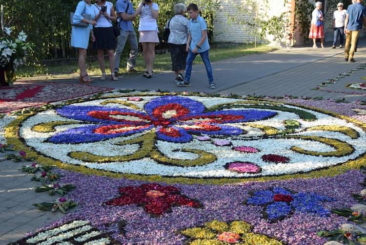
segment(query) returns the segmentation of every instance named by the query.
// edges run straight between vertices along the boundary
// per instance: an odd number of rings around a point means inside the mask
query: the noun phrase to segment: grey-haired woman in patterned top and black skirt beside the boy
[[[168,43],[170,46],[170,55],[172,58],[172,70],[175,73],[175,82],[184,81],[183,73],[188,53],[185,47],[188,39],[188,20],[184,14],[186,7],[183,3],[174,5],[174,13],[169,22],[170,35]],[[166,23],[166,26],[168,25]]]

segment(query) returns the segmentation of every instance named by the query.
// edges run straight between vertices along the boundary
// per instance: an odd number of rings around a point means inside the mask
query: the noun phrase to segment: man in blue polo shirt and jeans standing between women
[[[132,3],[129,0],[118,0],[116,2],[116,10],[117,15],[120,17],[118,18],[120,35],[117,39],[117,48],[114,54],[116,57],[116,68],[114,69],[114,74],[118,76],[118,67],[120,65],[121,53],[126,41],[128,40],[128,43],[131,47],[130,57],[127,61],[127,71],[129,72],[137,72],[135,65],[137,54],[139,52],[139,46],[137,43],[135,30],[133,29],[133,21],[136,19],[136,14]]]

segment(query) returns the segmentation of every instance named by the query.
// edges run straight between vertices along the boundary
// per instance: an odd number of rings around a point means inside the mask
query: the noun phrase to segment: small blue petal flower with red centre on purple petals
[[[274,187],[270,190],[259,190],[252,193],[252,197],[244,204],[264,206],[264,218],[271,222],[282,220],[295,210],[320,216],[330,215],[320,204],[334,199],[315,193],[291,193],[284,188]]]

